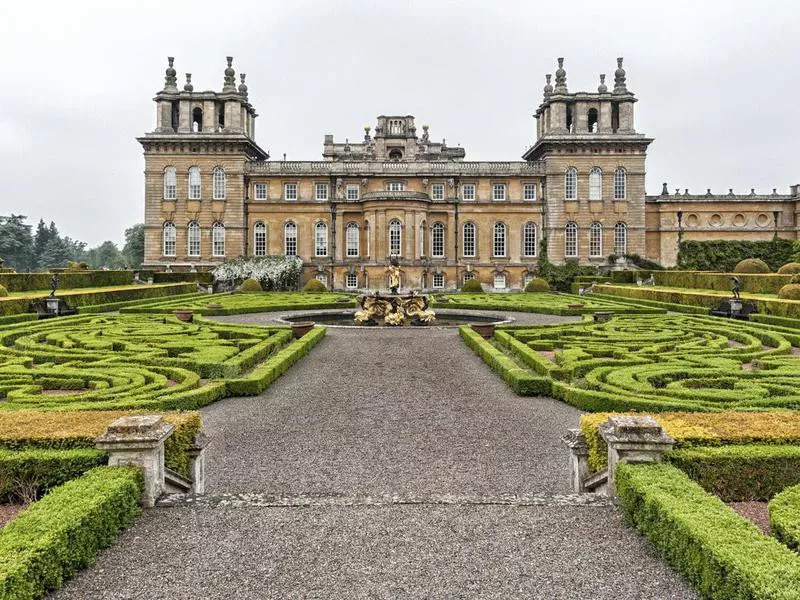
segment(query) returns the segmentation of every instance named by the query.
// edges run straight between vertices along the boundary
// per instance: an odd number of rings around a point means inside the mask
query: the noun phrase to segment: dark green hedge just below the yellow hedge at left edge
[[[33,500],[105,462],[93,448],[0,450],[0,502]]]

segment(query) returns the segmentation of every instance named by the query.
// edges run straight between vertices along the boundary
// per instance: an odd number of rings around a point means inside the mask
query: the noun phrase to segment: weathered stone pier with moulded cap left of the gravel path
[[[110,466],[142,468],[143,506],[153,506],[164,492],[164,440],[174,429],[162,415],[136,415],[117,419],[95,440],[99,450],[108,452]]]

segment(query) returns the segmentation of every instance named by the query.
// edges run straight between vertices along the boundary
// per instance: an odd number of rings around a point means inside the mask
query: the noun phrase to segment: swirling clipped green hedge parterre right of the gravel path
[[[534,393],[591,412],[800,408],[800,332],[787,327],[619,315],[602,324],[502,328],[491,344],[466,328],[462,336],[495,370],[526,371],[538,382],[528,386]]]

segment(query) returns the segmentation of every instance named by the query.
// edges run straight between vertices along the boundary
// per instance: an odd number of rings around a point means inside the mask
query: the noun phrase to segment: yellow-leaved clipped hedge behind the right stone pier
[[[608,448],[598,426],[611,414],[581,416],[581,431],[589,446],[589,469],[606,468]],[[800,412],[675,412],[652,415],[677,446],[721,446],[723,444],[800,444]]]

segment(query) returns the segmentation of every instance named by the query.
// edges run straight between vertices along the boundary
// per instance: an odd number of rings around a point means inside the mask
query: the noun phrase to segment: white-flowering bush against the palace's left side
[[[303,261],[297,256],[244,257],[214,269],[214,280],[232,288],[245,279],[255,279],[265,292],[294,290],[300,281]]]

